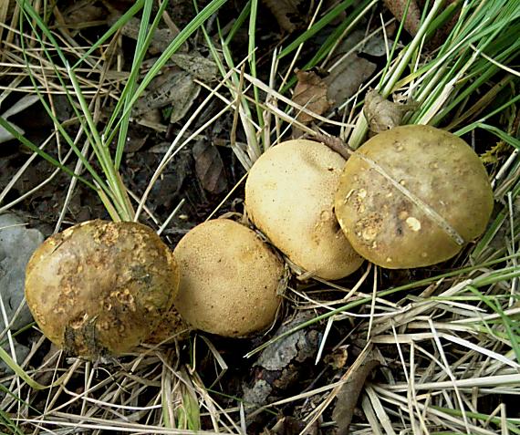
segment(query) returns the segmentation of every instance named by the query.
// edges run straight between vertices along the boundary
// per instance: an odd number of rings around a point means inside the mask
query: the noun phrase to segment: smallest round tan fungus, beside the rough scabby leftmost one
[[[284,264],[254,231],[215,219],[184,235],[173,254],[181,271],[174,306],[195,329],[244,337],[273,323]]]

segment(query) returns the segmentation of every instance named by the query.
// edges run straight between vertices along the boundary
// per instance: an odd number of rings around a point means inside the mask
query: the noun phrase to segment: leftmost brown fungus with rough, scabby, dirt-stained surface
[[[26,267],[37,325],[84,357],[139,345],[171,308],[178,285],[172,252],[140,223],[79,223],[49,237]]]

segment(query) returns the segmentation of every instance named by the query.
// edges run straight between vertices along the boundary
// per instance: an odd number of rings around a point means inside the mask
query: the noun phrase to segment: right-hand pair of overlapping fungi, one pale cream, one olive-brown
[[[245,184],[251,221],[324,279],[363,259],[393,269],[448,260],[484,233],[493,205],[476,153],[423,125],[384,131],[348,161],[322,143],[289,140],[267,150]]]

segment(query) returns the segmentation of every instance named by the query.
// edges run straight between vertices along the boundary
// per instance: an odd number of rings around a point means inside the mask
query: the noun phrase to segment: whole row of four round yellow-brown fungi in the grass
[[[441,129],[390,129],[348,161],[323,143],[288,140],[245,184],[247,216],[263,236],[215,219],[172,253],[144,225],[82,223],[36,250],[26,299],[47,337],[78,355],[120,354],[176,329],[245,337],[275,321],[286,282],[265,237],[306,276],[343,278],[364,259],[420,267],[483,233],[493,203],[478,156]]]

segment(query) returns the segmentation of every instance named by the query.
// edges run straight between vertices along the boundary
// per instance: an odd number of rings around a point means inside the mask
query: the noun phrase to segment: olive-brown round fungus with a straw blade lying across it
[[[348,159],[336,194],[354,249],[391,269],[440,263],[485,230],[493,192],[475,152],[452,133],[409,125]]]

